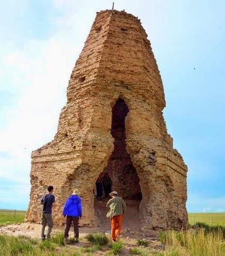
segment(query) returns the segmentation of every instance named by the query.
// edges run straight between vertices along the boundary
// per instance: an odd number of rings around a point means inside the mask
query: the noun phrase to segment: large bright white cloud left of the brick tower
[[[1,159],[0,179],[29,183],[31,151],[53,139],[66,104],[70,73],[91,26],[81,30],[74,23],[80,19],[78,14],[65,13],[55,22],[51,37],[26,41],[3,54],[1,73],[10,77],[13,88],[8,90],[19,95],[19,100],[7,109],[0,131],[0,151],[11,156]]]

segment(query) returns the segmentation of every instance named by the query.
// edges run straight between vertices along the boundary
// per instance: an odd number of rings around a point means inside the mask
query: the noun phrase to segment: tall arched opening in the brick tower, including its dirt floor
[[[124,228],[140,227],[139,204],[142,198],[139,177],[126,148],[125,117],[129,113],[127,104],[118,99],[112,107],[111,134],[114,138],[114,149],[107,166],[98,176],[94,190],[95,214],[100,220],[100,228],[109,226],[106,219],[106,202],[109,193],[117,191],[128,207],[128,214],[123,221]],[[107,221],[107,222],[106,222]]]

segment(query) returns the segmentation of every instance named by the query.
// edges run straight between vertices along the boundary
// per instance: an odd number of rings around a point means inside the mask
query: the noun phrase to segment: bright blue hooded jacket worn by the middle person
[[[63,215],[82,217],[81,199],[78,197],[78,195],[69,196],[64,206]]]

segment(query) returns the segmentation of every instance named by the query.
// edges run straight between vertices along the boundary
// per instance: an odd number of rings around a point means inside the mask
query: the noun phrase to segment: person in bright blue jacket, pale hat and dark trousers
[[[75,242],[77,243],[79,239],[78,223],[79,223],[79,218],[82,217],[82,202],[81,202],[81,199],[78,197],[78,195],[79,195],[79,191],[75,189],[74,193],[69,196],[64,206],[63,215],[64,217],[66,217],[66,227],[65,227],[64,237],[66,242],[68,241],[69,229],[72,221],[74,224]]]

